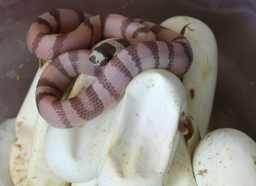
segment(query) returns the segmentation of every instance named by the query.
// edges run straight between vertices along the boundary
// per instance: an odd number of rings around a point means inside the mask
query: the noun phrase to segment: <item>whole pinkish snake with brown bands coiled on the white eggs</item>
[[[106,38],[118,39],[102,43],[94,51],[89,49]],[[188,40],[159,24],[67,9],[37,17],[28,30],[27,46],[38,58],[52,60],[39,78],[36,106],[55,128],[79,126],[99,116],[144,70],[161,68],[182,77],[193,61]],[[70,81],[80,73],[96,79],[79,95],[62,99]]]

